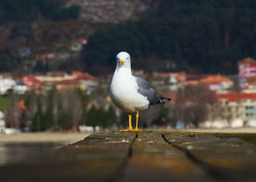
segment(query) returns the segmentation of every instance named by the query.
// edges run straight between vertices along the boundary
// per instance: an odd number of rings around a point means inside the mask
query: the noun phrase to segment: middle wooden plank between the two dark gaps
[[[203,168],[162,138],[161,132],[138,132],[121,181],[211,181]]]

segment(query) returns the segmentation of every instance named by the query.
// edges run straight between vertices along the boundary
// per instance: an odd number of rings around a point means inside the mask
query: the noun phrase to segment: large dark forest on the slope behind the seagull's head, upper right
[[[170,60],[175,71],[235,74],[238,60],[256,58],[255,8],[254,0],[160,0],[147,17],[91,35],[83,58],[87,68],[113,67],[127,51],[137,67]]]

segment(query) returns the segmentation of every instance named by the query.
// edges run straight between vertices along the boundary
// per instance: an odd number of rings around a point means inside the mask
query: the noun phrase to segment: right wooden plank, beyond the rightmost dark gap
[[[187,136],[186,136],[187,135]],[[256,177],[256,146],[241,141],[239,134],[196,134],[182,137],[167,134],[166,140],[184,151],[193,161],[208,170],[213,178],[233,181],[251,181]],[[220,136],[225,135],[224,139]],[[238,138],[233,138],[233,137]],[[245,137],[246,135],[244,135]]]

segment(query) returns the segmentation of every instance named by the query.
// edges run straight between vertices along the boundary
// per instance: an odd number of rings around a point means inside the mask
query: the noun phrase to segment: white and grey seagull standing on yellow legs
[[[136,131],[138,129],[139,112],[150,105],[165,103],[170,98],[159,98],[150,84],[139,76],[133,76],[131,58],[127,52],[116,55],[116,71],[110,86],[110,98],[115,105],[129,114],[129,129],[119,131]],[[132,113],[136,114],[136,127],[132,128]]]

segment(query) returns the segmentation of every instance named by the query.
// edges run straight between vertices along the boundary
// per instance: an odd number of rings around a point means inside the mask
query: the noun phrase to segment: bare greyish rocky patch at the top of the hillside
[[[80,18],[90,23],[119,23],[134,20],[147,9],[157,6],[152,0],[69,0],[66,6],[78,4]]]

